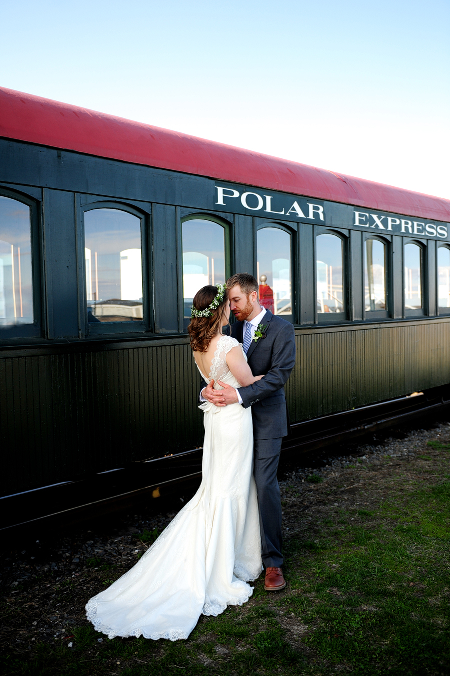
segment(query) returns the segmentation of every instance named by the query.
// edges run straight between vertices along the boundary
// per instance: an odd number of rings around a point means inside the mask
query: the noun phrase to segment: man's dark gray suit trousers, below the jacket
[[[277,468],[282,438],[254,439],[253,475],[258,490],[263,564],[282,566],[282,503]]]

